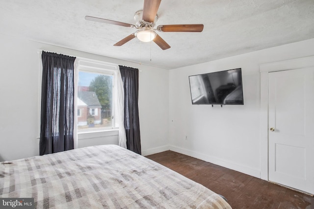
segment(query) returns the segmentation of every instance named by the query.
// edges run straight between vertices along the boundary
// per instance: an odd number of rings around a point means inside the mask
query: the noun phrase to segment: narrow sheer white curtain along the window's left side
[[[78,59],[74,61],[74,149],[78,148]]]

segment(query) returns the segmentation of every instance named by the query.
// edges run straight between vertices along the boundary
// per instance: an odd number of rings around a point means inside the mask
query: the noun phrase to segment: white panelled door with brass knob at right
[[[269,181],[314,194],[314,68],[268,73]]]

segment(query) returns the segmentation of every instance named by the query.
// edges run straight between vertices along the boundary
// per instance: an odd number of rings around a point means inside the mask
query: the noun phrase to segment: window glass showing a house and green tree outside
[[[79,71],[78,132],[112,128],[113,76]]]

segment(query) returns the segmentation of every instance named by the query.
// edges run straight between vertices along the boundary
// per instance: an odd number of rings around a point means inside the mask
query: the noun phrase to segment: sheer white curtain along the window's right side
[[[124,129],[124,88],[120,70],[116,71],[117,87],[115,95],[117,97],[115,103],[116,124],[119,126],[119,146],[127,149],[127,136]]]

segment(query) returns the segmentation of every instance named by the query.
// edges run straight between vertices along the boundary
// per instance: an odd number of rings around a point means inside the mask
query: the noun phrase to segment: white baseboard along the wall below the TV
[[[244,173],[244,174],[247,174],[247,175],[250,175],[250,176],[254,176],[256,178],[261,179],[261,172],[260,172],[260,170],[255,169],[255,168],[250,168],[250,167],[247,167],[247,166],[238,165],[238,164],[236,164],[234,162],[225,161],[225,160],[219,159],[217,157],[212,157],[212,156],[209,156],[209,155],[196,153],[194,151],[187,150],[187,149],[184,149],[184,148],[180,148],[180,147],[177,147],[177,146],[170,145],[169,146],[169,150],[177,152],[177,153],[181,153],[183,155],[187,155],[187,156],[190,156],[190,157],[195,157],[195,158],[204,160],[206,162],[210,162],[210,163],[213,163],[215,165],[219,165],[219,166],[222,166],[222,167],[225,167],[225,168],[229,168],[229,169],[232,169],[232,170],[235,170],[235,171],[238,171],[238,172],[241,172],[241,173]]]

